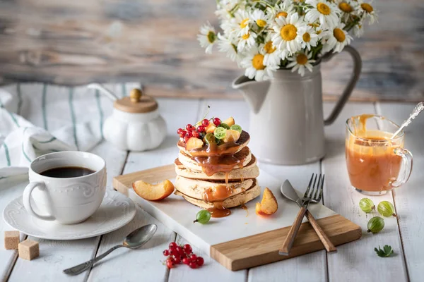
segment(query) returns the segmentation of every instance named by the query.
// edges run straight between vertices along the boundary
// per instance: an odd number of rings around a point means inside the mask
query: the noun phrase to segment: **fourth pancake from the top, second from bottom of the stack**
[[[230,182],[228,183],[228,189],[227,189],[225,183],[222,183],[222,182],[221,183],[211,182],[211,181],[190,179],[190,178],[184,178],[182,176],[177,176],[177,178],[175,179],[174,185],[175,185],[175,189],[177,189],[179,192],[182,192],[184,195],[187,195],[189,197],[192,197],[198,200],[204,200],[206,190],[216,191],[216,190],[223,189],[224,190],[223,196],[231,197],[231,196],[240,194],[242,192],[245,192],[246,190],[251,188],[254,183],[256,183],[256,180],[254,179]],[[227,191],[229,191],[230,193],[228,194]],[[214,201],[213,195],[212,197],[210,196],[209,200],[211,202]]]

